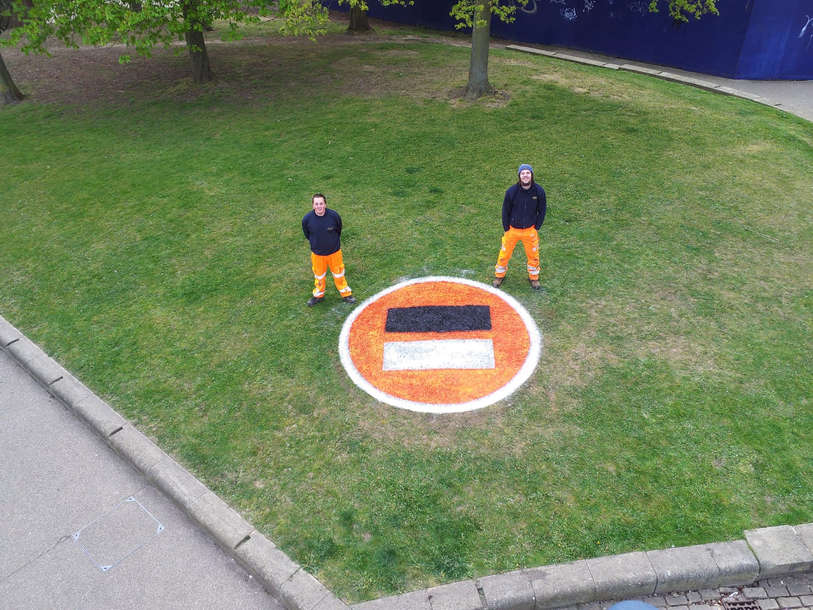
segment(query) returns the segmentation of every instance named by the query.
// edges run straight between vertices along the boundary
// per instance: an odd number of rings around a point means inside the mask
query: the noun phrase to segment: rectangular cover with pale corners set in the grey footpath
[[[163,529],[160,521],[131,496],[85,525],[73,539],[98,569],[107,572]]]

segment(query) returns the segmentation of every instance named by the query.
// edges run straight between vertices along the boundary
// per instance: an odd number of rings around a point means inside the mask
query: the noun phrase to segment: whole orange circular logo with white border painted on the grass
[[[457,277],[402,281],[368,298],[339,336],[341,364],[382,403],[428,413],[496,403],[531,376],[537,325],[514,298]]]

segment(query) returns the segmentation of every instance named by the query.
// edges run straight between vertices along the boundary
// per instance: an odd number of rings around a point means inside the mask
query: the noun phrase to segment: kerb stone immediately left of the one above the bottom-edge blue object
[[[584,560],[525,570],[537,599],[536,610],[548,610],[596,599],[593,576]]]

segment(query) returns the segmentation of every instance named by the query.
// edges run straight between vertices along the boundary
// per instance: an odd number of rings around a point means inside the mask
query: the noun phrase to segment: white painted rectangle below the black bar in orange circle
[[[494,368],[491,339],[391,341],[384,344],[385,371],[433,368]]]

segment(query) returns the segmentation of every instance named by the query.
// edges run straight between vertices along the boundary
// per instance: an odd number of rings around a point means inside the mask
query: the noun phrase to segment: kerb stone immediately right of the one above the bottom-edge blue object
[[[647,551],[646,556],[658,576],[657,594],[705,589],[719,573],[711,553],[702,545]]]

